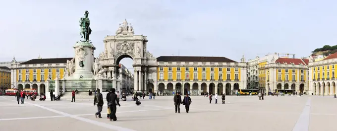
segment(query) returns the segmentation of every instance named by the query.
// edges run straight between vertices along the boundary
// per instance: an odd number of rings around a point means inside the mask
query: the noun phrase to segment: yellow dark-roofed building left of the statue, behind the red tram
[[[39,93],[46,92],[46,80],[54,80],[57,76],[63,78],[66,61],[72,58],[32,59],[27,62],[11,65],[11,88],[38,89]],[[49,91],[47,91],[49,92]]]

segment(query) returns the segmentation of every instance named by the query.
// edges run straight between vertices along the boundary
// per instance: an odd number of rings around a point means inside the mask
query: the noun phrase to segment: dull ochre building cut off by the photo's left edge
[[[10,68],[0,66],[0,89],[10,88]]]

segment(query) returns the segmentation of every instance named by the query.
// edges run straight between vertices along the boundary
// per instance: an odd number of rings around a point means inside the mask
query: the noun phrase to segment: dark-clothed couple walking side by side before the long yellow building
[[[180,93],[176,93],[176,95],[173,97],[173,102],[175,106],[175,113],[180,113],[180,104],[185,105],[186,113],[189,111],[189,106],[192,103],[191,98],[186,94],[183,100],[181,100]]]

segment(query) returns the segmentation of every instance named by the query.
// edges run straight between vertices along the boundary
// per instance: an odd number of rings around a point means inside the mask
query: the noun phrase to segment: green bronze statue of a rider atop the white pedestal
[[[90,20],[88,18],[89,12],[88,10],[85,11],[84,17],[80,19],[80,28],[81,28],[81,38],[84,37],[84,41],[89,41],[89,35],[91,34],[90,29]]]

